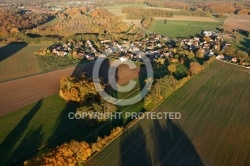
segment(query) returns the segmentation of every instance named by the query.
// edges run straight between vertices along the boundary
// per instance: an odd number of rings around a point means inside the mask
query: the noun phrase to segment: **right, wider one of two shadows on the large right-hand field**
[[[204,165],[185,132],[172,120],[154,120],[154,154],[159,165]]]

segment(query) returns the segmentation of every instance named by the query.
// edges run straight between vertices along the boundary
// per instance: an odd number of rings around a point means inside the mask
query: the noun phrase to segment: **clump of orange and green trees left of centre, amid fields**
[[[104,89],[104,86],[102,86]],[[60,84],[60,96],[66,101],[75,101],[80,104],[77,112],[100,113],[98,117],[88,116],[83,118],[84,125],[95,125],[98,122],[106,121],[105,113],[112,113],[117,110],[117,107],[108,101],[105,101],[97,92],[94,82],[86,75],[80,78],[62,77]]]

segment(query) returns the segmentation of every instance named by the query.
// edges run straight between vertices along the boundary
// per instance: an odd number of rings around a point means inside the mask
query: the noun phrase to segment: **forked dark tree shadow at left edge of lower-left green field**
[[[23,160],[24,152],[31,152],[35,148],[39,148],[41,146],[41,140],[43,138],[43,133],[41,133],[42,126],[36,129],[31,129],[28,131],[28,134],[22,138],[22,135],[28,128],[30,121],[41,106],[42,100],[39,100],[3,140],[0,146],[0,165],[14,165],[16,162]],[[22,139],[21,143],[17,144],[20,139]]]

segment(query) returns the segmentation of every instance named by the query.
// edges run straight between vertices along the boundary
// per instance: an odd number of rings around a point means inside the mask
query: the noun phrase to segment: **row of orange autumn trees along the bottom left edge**
[[[86,160],[95,152],[100,151],[106,144],[114,140],[123,132],[123,128],[114,128],[110,135],[98,138],[95,143],[89,144],[85,141],[75,141],[64,143],[47,153],[44,153],[31,160],[25,161],[25,166],[34,165],[83,165]]]

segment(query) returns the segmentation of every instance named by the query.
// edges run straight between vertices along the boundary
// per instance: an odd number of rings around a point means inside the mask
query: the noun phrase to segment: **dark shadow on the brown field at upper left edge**
[[[25,43],[25,42],[22,42],[22,43],[11,42],[11,43],[1,47],[0,48],[0,53],[1,53],[0,62],[9,58],[13,54],[17,53],[18,51],[20,51],[21,49],[23,49],[27,45],[28,45],[28,43]]]

